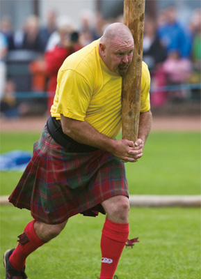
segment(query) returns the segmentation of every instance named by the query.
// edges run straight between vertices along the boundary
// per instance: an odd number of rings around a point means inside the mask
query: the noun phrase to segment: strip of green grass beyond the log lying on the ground
[[[40,133],[1,133],[1,153],[32,151]],[[200,195],[200,133],[151,133],[144,156],[127,163],[131,195]],[[1,195],[15,188],[20,172],[1,172]]]

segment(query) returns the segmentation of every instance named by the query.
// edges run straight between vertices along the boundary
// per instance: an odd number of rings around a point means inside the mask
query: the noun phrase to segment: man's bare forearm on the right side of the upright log
[[[148,135],[152,127],[152,112],[141,112],[139,119],[139,128],[138,128],[138,139],[143,140],[143,145],[147,140]]]

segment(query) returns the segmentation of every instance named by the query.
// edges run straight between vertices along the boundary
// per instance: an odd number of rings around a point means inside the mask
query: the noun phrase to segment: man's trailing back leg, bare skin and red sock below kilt
[[[28,223],[24,233],[18,236],[18,245],[9,257],[9,262],[13,269],[18,271],[24,269],[26,257],[43,244],[58,236],[66,223],[67,221],[58,225],[47,225],[35,220]]]

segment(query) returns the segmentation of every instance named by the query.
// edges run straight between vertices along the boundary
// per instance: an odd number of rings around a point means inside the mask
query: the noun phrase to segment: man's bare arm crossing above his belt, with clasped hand
[[[114,156],[125,162],[136,162],[140,146],[135,146],[129,140],[112,140],[106,135],[99,133],[86,121],[70,119],[61,114],[61,126],[63,133],[81,144],[88,144],[113,153]]]

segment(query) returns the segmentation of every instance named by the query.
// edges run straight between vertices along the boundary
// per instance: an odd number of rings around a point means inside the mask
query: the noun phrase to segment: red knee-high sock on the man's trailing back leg
[[[26,257],[28,257],[31,252],[35,251],[38,247],[45,244],[42,240],[38,238],[35,234],[33,225],[35,220],[28,223],[24,229],[24,233],[19,237],[19,242],[12,255],[10,255],[9,262],[14,269],[18,271],[24,269]]]

